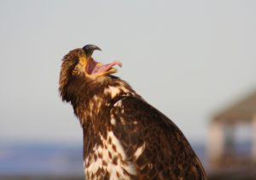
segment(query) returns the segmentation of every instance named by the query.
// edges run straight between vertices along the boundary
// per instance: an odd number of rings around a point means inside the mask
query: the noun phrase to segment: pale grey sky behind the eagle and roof
[[[256,91],[256,2],[0,1],[0,142],[81,143],[61,59],[92,43],[117,76],[207,142],[212,115]]]

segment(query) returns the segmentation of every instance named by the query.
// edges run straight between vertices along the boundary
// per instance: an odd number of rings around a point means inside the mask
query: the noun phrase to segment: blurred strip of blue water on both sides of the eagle
[[[205,164],[205,146],[192,144]],[[61,144],[0,144],[0,175],[83,176],[81,145]]]

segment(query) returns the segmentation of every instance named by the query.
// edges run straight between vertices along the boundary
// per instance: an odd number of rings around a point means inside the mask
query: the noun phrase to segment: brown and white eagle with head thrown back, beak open
[[[83,130],[85,179],[207,179],[183,132],[113,76],[120,61],[102,64],[96,45],[75,48],[61,60],[59,93],[72,104]]]

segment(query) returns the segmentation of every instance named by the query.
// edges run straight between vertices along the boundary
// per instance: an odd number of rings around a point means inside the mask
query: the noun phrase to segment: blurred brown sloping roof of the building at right
[[[213,121],[252,121],[256,115],[256,91],[214,116]]]

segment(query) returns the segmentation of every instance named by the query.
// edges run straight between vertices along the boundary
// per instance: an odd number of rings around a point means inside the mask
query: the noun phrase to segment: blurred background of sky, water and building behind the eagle
[[[174,121],[209,179],[255,179],[256,2],[0,1],[0,179],[82,179],[62,57],[96,60]]]

